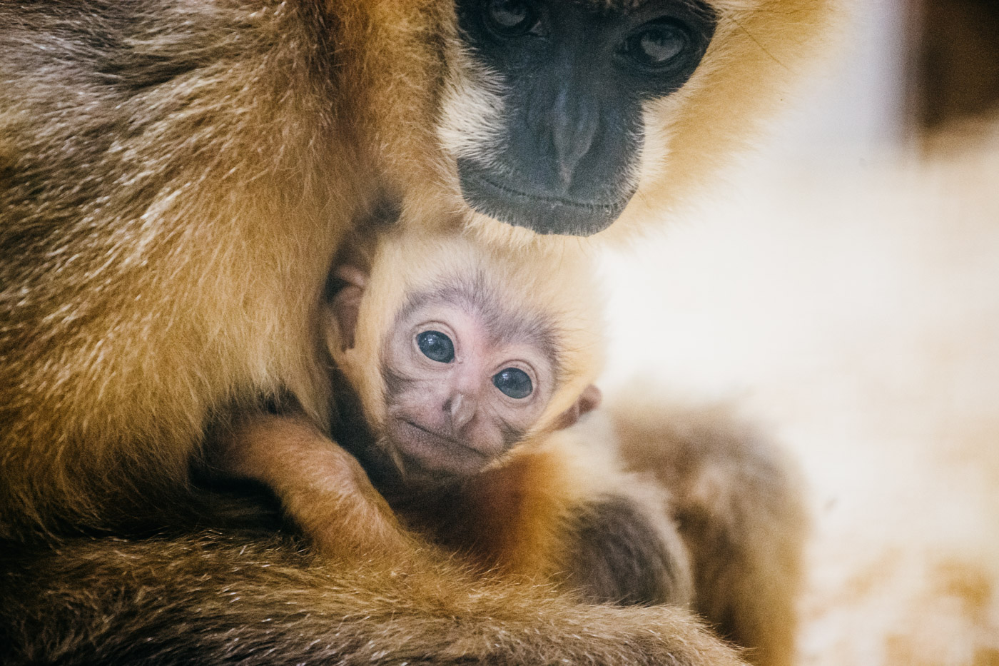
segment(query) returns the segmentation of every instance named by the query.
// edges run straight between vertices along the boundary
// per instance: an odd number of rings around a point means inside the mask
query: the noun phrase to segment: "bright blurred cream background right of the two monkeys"
[[[798,458],[800,664],[995,666],[999,2],[855,4],[760,150],[606,255],[603,385],[733,405]]]

